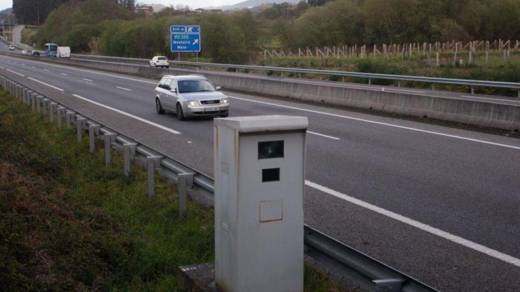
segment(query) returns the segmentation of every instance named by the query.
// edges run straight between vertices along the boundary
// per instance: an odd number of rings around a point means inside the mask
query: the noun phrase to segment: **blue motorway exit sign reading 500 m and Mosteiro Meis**
[[[171,51],[178,53],[180,60],[181,52],[200,52],[201,38],[200,25],[172,25],[171,33]]]

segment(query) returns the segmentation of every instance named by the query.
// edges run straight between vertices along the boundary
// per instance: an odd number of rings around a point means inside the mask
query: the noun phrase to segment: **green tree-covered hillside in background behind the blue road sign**
[[[14,9],[21,15],[17,5]],[[169,54],[170,25],[199,24],[203,26],[202,57],[243,62],[266,45],[298,48],[520,39],[518,19],[518,0],[309,0],[230,13],[166,8],[153,17],[135,14],[127,2],[87,0],[66,2],[50,12],[36,41],[67,44],[73,51],[147,58]]]

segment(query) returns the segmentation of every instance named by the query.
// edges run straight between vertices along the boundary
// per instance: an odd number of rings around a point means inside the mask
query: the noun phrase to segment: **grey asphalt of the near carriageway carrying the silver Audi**
[[[114,129],[155,125],[128,136],[213,175],[213,121],[156,114],[157,80],[4,56],[0,73]],[[520,139],[226,94],[230,116],[308,117],[311,227],[439,290],[520,287]]]

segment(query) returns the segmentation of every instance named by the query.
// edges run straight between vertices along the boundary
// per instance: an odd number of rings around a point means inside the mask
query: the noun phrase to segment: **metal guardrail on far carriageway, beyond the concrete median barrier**
[[[73,54],[71,57],[77,59],[99,59],[107,61],[123,61],[123,62],[149,62],[148,59],[138,58],[123,58],[123,57],[108,57],[108,56],[94,56],[94,55],[77,55]],[[389,75],[389,74],[375,74],[375,73],[360,73],[360,72],[348,72],[348,71],[331,71],[331,70],[315,70],[315,69],[298,69],[298,68],[283,68],[283,67],[266,67],[266,66],[252,66],[252,65],[233,65],[233,64],[219,64],[219,63],[201,63],[201,62],[186,62],[186,61],[170,61],[171,64],[187,65],[190,67],[207,67],[207,68],[223,68],[223,69],[244,69],[244,70],[256,70],[272,72],[280,72],[282,75],[284,72],[297,73],[301,78],[302,74],[317,74],[321,75],[332,75],[343,77],[356,77],[366,78],[368,83],[371,84],[372,79],[386,79],[397,81],[400,87],[401,81],[412,81],[412,82],[423,82],[432,83],[432,88],[435,89],[435,84],[452,84],[461,86],[470,86],[472,94],[474,93],[474,87],[492,87],[492,88],[509,88],[518,91],[518,97],[520,97],[520,83],[515,82],[499,82],[499,81],[481,81],[481,80],[470,80],[470,79],[451,79],[451,78],[437,78],[437,77],[422,77],[422,76],[408,76],[408,75]]]

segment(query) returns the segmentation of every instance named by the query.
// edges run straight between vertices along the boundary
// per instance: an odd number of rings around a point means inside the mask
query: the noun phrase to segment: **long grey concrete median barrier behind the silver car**
[[[204,74],[213,83],[226,89],[262,95],[316,102],[333,107],[356,108],[399,115],[428,117],[437,120],[464,123],[505,130],[520,129],[520,105],[499,104],[488,101],[414,95],[370,89],[355,89],[335,85],[309,84],[262,75],[223,71],[199,71],[189,68],[159,70],[146,65],[82,59],[54,59],[23,56],[1,52],[17,58],[28,58],[57,64],[73,65],[140,77],[160,79],[163,75]]]

